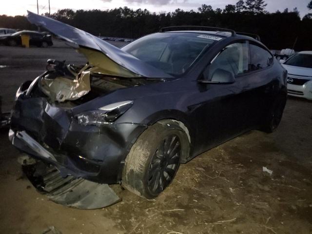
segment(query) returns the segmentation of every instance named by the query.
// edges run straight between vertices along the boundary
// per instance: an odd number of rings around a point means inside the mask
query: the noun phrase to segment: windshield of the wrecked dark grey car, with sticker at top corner
[[[216,37],[199,33],[156,33],[137,39],[121,50],[177,76],[183,74],[215,41]]]

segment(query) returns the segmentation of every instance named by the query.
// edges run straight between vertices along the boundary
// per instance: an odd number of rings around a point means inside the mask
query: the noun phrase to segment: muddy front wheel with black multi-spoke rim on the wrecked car
[[[183,139],[183,131],[166,124],[150,126],[137,138],[125,160],[122,186],[147,199],[158,196],[176,176],[181,149],[185,149]]]

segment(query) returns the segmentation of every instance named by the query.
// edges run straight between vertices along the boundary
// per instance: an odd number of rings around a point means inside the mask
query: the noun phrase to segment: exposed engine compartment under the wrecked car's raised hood
[[[118,89],[164,81],[106,75],[89,63],[77,66],[55,59],[48,59],[46,69],[46,73],[38,80],[38,85],[33,88],[31,97],[46,97],[49,103],[65,109]]]

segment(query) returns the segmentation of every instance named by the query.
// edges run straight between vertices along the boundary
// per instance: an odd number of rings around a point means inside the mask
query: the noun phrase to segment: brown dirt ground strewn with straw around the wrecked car
[[[0,46],[5,108],[23,80],[47,58],[83,61],[66,47]],[[122,202],[83,211],[40,195],[23,176],[20,152],[0,132],[0,233],[41,234],[310,234],[312,233],[312,101],[289,98],[273,134],[251,131],[181,165],[155,200],[120,192]],[[273,171],[272,176],[262,167]]]

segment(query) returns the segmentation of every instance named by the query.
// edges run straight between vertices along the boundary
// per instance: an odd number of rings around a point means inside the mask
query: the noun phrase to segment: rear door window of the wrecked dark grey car
[[[269,67],[273,62],[273,56],[266,49],[252,43],[250,44],[250,55],[249,71]]]

